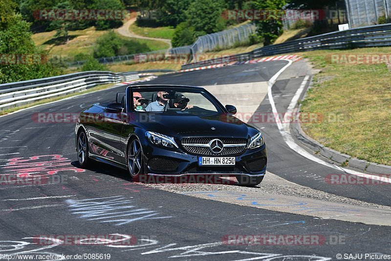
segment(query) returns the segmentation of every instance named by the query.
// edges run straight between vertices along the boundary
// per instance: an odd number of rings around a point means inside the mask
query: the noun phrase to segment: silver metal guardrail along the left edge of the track
[[[160,70],[158,70],[160,71]],[[151,72],[151,71],[149,71]],[[0,85],[0,110],[82,91],[99,84],[136,80],[139,72],[87,71]]]

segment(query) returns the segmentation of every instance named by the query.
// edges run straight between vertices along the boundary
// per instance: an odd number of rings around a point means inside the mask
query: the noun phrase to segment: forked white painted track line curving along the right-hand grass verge
[[[282,126],[282,123],[281,123],[281,120],[280,120],[280,116],[277,113],[276,105],[274,104],[274,99],[273,99],[273,95],[272,95],[272,87],[276,83],[277,78],[280,76],[280,74],[289,65],[291,65],[293,63],[293,61],[291,61],[291,60],[284,60],[284,61],[287,61],[288,64],[285,65],[284,67],[282,67],[282,69],[279,70],[268,82],[267,96],[269,98],[270,105],[272,107],[273,113],[274,113],[274,115],[276,117],[275,120],[276,120],[276,123],[277,123],[277,127],[278,127],[278,129],[279,129],[279,131],[280,131],[280,133],[282,135],[282,138],[284,139],[285,143],[289,146],[289,148],[291,148],[293,151],[299,153],[300,155],[306,157],[307,159],[310,159],[312,161],[315,161],[316,163],[325,165],[325,166],[327,166],[329,168],[333,168],[333,169],[336,169],[338,171],[342,171],[342,172],[345,172],[345,173],[348,173],[348,174],[352,174],[352,175],[356,175],[356,176],[360,176],[360,177],[364,177],[364,178],[369,178],[369,179],[373,179],[373,180],[379,180],[379,181],[391,183],[391,178],[385,178],[385,177],[380,177],[380,176],[371,175],[371,174],[364,174],[364,173],[361,173],[361,172],[357,172],[357,171],[341,168],[341,167],[335,166],[333,164],[330,164],[330,163],[328,163],[326,161],[323,161],[323,160],[315,157],[314,155],[308,153],[307,151],[305,151],[303,148],[301,148],[299,145],[297,145],[295,143],[295,141],[293,140],[292,136],[290,135],[290,131],[289,131],[289,124],[290,123],[289,122],[288,123],[284,123],[284,126]],[[302,85],[296,91],[295,96],[293,96],[293,98],[292,98],[292,100],[291,100],[291,102],[290,102],[290,104],[288,106],[288,109],[286,111],[287,112],[286,114],[291,114],[291,112],[295,108],[295,106],[297,104],[297,101],[299,100],[299,97],[300,97],[300,95],[302,94],[302,92],[304,90],[306,81],[308,81],[308,78],[305,77],[304,80],[303,80]]]

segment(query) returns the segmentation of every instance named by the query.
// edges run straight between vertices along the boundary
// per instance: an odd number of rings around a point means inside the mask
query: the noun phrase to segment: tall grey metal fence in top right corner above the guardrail
[[[345,0],[350,28],[373,25],[391,15],[391,0]]]

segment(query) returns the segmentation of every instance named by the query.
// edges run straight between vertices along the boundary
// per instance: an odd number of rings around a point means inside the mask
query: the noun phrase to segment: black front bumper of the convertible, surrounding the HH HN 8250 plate
[[[266,145],[253,150],[247,149],[240,155],[226,155],[235,156],[235,166],[198,166],[198,156],[210,155],[193,155],[181,149],[165,149],[152,145],[147,139],[141,139],[140,142],[144,152],[144,170],[152,175],[243,174],[262,176],[266,172]]]

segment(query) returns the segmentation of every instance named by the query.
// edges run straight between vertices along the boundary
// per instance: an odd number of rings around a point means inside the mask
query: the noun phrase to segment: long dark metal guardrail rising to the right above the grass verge
[[[331,32],[317,36],[301,38],[285,43],[272,44],[255,49],[249,53],[236,54],[223,58],[182,65],[182,69],[240,61],[235,60],[240,57],[246,57],[248,60],[251,60],[253,58],[291,52],[374,46],[391,46],[391,23],[353,28],[345,31]]]

